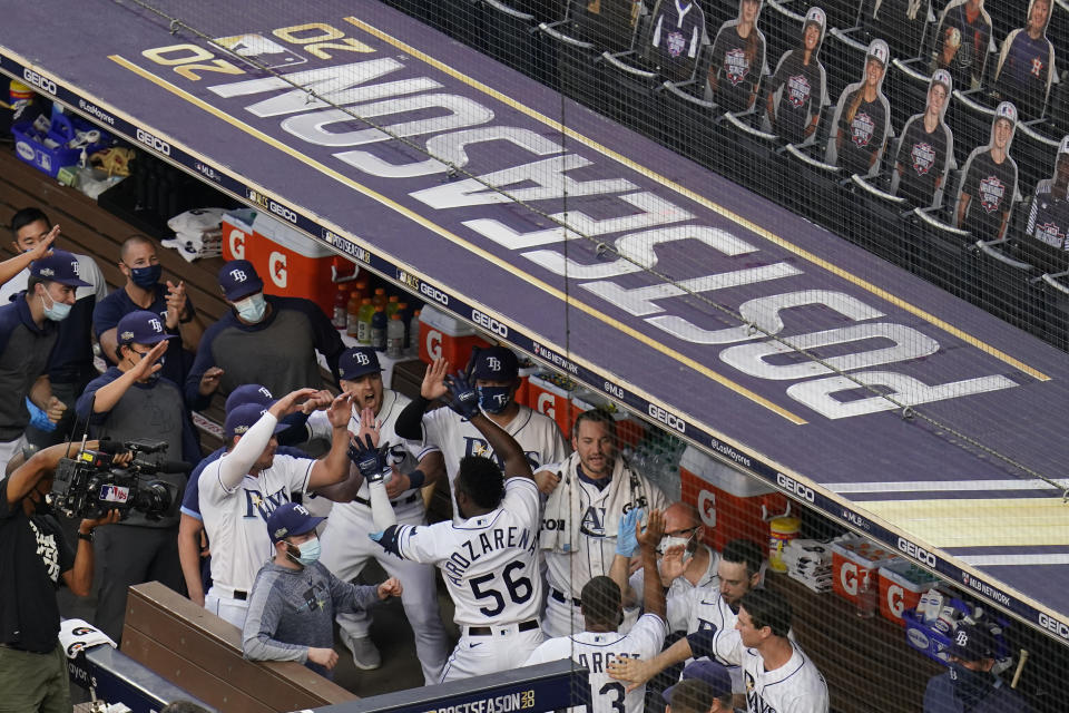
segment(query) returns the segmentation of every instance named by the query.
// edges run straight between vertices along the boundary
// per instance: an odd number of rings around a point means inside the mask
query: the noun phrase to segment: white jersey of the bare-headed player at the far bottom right
[[[761,653],[743,646],[737,631],[717,636],[717,654],[743,667],[746,710],[749,713],[827,713],[827,684],[824,676],[796,643],[791,642],[791,646],[794,653],[786,664],[765,671],[765,660]]]

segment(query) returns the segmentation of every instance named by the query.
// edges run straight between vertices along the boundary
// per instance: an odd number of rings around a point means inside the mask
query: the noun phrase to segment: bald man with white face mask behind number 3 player
[[[702,543],[702,520],[697,509],[688,502],[675,502],[665,510],[665,536],[657,548],[657,555],[660,580],[668,587],[669,600],[689,600],[684,596],[689,590],[718,586],[720,583],[717,576],[720,556]],[[641,569],[631,575],[629,584],[626,605],[635,606],[638,603],[638,593],[643,590]],[[669,606],[669,631],[685,632],[689,612],[684,608]]]

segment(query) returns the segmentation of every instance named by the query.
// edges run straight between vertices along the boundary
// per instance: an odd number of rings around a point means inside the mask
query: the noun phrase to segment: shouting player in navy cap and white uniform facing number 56
[[[409,399],[382,388],[382,367],[375,350],[367,346],[349,349],[342,353],[339,368],[342,390],[352,397],[349,430],[359,433],[364,418],[372,423],[377,419],[379,443],[388,448],[386,466],[391,470],[385,491],[391,498],[396,521],[422,525],[425,515],[420,488],[435,482],[443,472],[441,452],[398,437],[394,422]],[[330,429],[326,413],[313,413],[308,427],[315,436],[321,434],[324,427]],[[351,582],[369,559],[375,558],[389,576],[401,582],[404,587],[401,602],[415,634],[415,651],[423,666],[423,677],[428,685],[438,683],[449,646],[438,611],[434,568],[388,557],[381,547],[363,537],[364,533],[381,528],[374,526],[372,518],[369,484],[355,467],[350,468],[350,478],[345,482],[318,490],[317,495],[336,501],[323,533],[323,564],[343,582]],[[340,614],[337,624],[356,667],[377,668],[381,662],[379,651],[367,636],[371,627],[369,613]]]

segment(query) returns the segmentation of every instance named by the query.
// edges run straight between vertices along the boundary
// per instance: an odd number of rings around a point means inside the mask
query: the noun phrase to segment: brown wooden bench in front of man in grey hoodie
[[[357,699],[298,663],[246,661],[236,626],[158,582],[130,587],[121,652],[226,713],[300,711]]]

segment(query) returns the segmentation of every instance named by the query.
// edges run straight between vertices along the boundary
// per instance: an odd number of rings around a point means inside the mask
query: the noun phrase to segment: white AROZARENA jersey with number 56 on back
[[[541,506],[530,478],[509,478],[498,509],[459,525],[401,525],[401,556],[442,570],[460,626],[519,624],[538,619],[542,578],[538,572]]]

